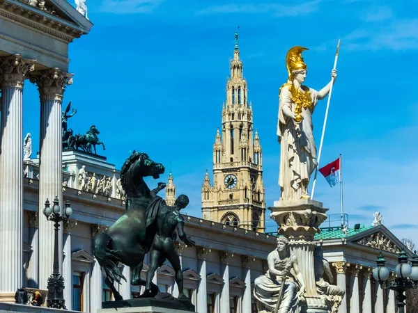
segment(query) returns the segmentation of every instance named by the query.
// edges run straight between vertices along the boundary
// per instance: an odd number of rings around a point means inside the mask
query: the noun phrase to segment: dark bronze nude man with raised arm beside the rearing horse
[[[173,270],[176,272],[176,283],[178,286],[178,298],[186,298],[183,293],[183,272],[181,271],[180,258],[176,252],[174,242],[177,239],[176,229],[179,238],[187,245],[194,246],[194,241],[188,238],[185,233],[185,220],[180,215],[180,209],[184,209],[189,204],[187,195],[180,195],[173,207],[157,195],[158,191],[165,188],[166,184],[159,183],[158,187],[151,191],[153,197],[148,204],[146,227],[156,227],[156,234],[153,245],[150,248],[150,267],[146,273],[146,287],[144,296],[152,295],[151,282],[158,266],[162,266],[166,259],[169,260]]]

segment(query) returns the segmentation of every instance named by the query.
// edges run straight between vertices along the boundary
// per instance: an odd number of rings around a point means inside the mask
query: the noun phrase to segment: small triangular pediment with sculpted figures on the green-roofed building
[[[372,230],[375,231],[365,236],[363,234],[361,238],[354,239],[353,243],[392,253],[399,253],[404,248],[403,243],[396,239],[386,227],[381,225],[376,227],[376,229],[372,228]]]

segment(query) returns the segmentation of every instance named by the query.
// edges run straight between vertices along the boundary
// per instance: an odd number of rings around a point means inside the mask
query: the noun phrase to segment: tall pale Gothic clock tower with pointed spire
[[[222,105],[222,134],[213,145],[213,185],[208,170],[202,186],[203,218],[214,222],[264,231],[265,200],[262,151],[257,131],[253,137],[251,102],[242,77],[238,32]]]

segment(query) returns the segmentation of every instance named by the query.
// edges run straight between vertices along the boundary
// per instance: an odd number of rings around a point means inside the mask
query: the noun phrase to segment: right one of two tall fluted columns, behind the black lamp
[[[58,68],[43,70],[31,75],[40,94],[40,143],[39,143],[39,214],[42,214],[45,200],[57,196],[62,201],[62,136],[61,104],[65,86],[72,83],[72,74]],[[20,149],[22,150],[22,149]],[[54,262],[54,223],[46,218],[39,220],[39,288],[47,289],[47,280],[52,273]],[[62,230],[62,227],[60,228]],[[62,233],[59,236],[59,250],[62,250]],[[60,255],[60,266],[62,255]]]

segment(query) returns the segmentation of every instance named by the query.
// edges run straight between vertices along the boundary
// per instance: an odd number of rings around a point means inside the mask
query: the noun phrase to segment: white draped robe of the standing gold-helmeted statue
[[[309,181],[317,165],[312,113],[318,103],[318,91],[311,88],[309,91],[311,92],[312,106],[310,109],[302,108],[303,120],[299,124],[283,113],[284,106],[287,106],[292,112],[295,111],[295,104],[291,100],[288,86],[281,88],[279,95],[277,136],[279,136],[281,145],[279,185],[283,200],[302,197],[302,180]]]

